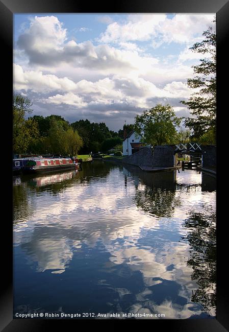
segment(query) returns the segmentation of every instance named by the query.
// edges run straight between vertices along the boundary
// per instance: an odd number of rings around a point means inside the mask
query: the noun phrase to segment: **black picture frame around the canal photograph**
[[[227,76],[227,40],[229,35],[229,2],[226,0],[133,0],[115,1],[106,5],[102,2],[87,4],[77,0],[2,0],[0,1],[0,35],[2,41],[2,101],[5,101],[5,108],[2,109],[2,124],[7,128],[3,137],[2,157],[2,186],[4,195],[2,197],[2,210],[6,211],[6,216],[2,219],[2,242],[1,255],[1,300],[0,300],[0,328],[8,331],[41,331],[58,328],[66,328],[66,323],[78,325],[79,320],[42,320],[42,319],[13,319],[13,265],[12,265],[12,224],[11,224],[11,198],[12,198],[12,46],[13,46],[13,14],[16,13],[216,13],[217,17],[217,146],[224,143],[223,133],[226,133],[226,124],[223,121],[223,110],[226,106],[227,84],[223,78]],[[3,103],[2,103],[3,105]],[[2,106],[3,107],[3,106]],[[224,110],[225,111],[225,110]],[[225,151],[224,151],[225,152]],[[219,153],[217,154],[217,164]],[[184,320],[90,320],[93,328],[107,327],[128,327],[129,324],[141,328],[145,323],[150,323],[152,329],[164,329],[169,331],[208,331],[225,332],[229,330],[229,298],[227,295],[227,223],[225,207],[226,197],[221,192],[220,186],[226,181],[223,172],[217,175],[217,316],[216,319],[184,319]],[[7,208],[8,206],[8,208]],[[88,320],[81,321],[84,325]],[[62,325],[64,324],[64,325]],[[95,324],[95,325],[94,325]],[[108,325],[107,325],[108,324]],[[116,325],[118,324],[118,325]],[[126,325],[127,324],[127,325]],[[86,324],[87,325],[87,324]],[[142,326],[144,325],[144,326]]]

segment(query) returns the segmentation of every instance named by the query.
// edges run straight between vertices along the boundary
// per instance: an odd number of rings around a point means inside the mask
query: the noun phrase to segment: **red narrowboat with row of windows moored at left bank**
[[[78,162],[71,158],[33,158],[23,167],[23,173],[56,172],[78,169]]]

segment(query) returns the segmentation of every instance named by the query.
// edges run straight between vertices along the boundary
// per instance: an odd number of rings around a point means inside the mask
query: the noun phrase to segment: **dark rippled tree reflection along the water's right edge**
[[[191,246],[187,263],[199,285],[192,301],[210,311],[216,305],[216,213],[209,208],[203,213],[191,212],[184,225],[190,230],[186,236]]]

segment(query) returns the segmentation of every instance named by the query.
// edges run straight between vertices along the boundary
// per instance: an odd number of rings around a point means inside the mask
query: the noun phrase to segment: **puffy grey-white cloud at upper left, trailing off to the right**
[[[146,66],[158,63],[153,57],[140,57],[134,44],[123,44],[125,50],[118,50],[104,44],[94,46],[89,40],[67,41],[66,29],[54,16],[35,17],[30,28],[19,36],[17,44],[29,57],[31,65],[52,67],[69,63],[74,67],[114,73],[117,70],[146,70]]]

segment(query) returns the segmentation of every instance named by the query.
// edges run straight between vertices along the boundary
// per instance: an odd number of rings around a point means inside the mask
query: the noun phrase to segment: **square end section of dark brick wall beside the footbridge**
[[[174,167],[176,165],[174,151],[173,145],[154,147],[152,167]]]

